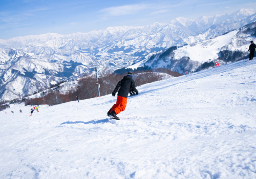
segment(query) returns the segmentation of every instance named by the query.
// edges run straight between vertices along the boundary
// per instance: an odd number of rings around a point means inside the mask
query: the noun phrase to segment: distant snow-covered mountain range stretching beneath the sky
[[[0,39],[0,98],[31,94],[57,81],[92,73],[94,66],[99,72],[114,71],[145,61],[166,48],[214,38],[254,20],[255,10],[241,9],[196,20],[179,17],[143,27]]]

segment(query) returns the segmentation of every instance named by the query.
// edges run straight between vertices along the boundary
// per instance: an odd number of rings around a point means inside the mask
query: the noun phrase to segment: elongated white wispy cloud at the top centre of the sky
[[[153,6],[150,4],[134,4],[134,5],[125,5],[125,6],[117,6],[110,7],[100,10],[106,16],[120,16],[120,15],[129,15],[136,14],[141,10],[152,9]]]

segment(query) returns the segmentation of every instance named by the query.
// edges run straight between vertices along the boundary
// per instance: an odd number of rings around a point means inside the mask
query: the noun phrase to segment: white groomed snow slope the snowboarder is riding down
[[[0,178],[255,178],[256,60],[111,95],[0,112]],[[19,113],[19,108],[23,113]],[[14,114],[10,113],[14,111]]]

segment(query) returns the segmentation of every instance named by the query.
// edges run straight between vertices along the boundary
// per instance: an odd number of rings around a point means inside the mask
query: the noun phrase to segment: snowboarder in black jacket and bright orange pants
[[[124,76],[123,79],[121,79],[117,83],[114,92],[112,92],[112,96],[116,95],[116,92],[119,87],[120,89],[117,94],[116,104],[114,104],[112,108],[108,111],[108,116],[113,116],[117,120],[119,120],[119,118],[116,115],[121,113],[121,111],[124,111],[126,107],[127,97],[130,92],[130,89],[132,88],[136,95],[139,94],[138,90],[135,87],[135,81],[133,80],[132,72],[128,72],[127,76]]]

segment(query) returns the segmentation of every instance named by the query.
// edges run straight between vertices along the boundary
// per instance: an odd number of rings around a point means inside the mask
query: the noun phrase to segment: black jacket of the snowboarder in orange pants
[[[119,81],[117,83],[114,93],[117,92],[119,87],[120,87],[120,89],[119,89],[117,95],[124,97],[124,98],[128,97],[128,94],[129,94],[131,88],[133,89],[133,91],[138,93],[138,90],[135,87],[135,81],[133,80],[133,78],[131,76],[123,77],[123,79],[121,79],[121,81]]]

